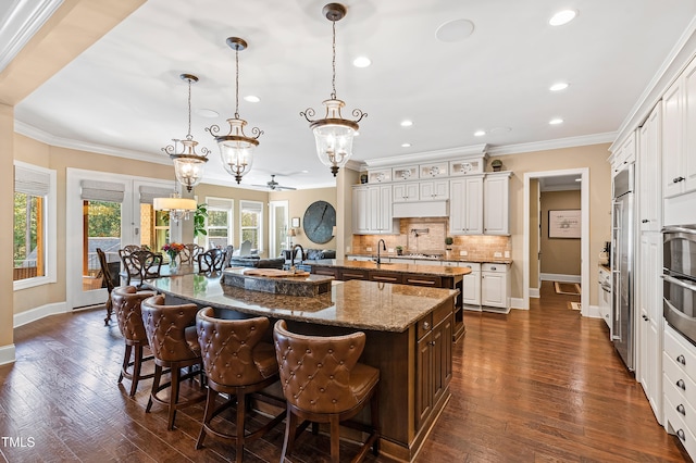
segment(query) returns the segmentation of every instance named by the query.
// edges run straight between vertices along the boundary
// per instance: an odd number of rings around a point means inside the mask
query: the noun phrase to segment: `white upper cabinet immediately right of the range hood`
[[[449,233],[483,235],[483,175],[449,180]]]

